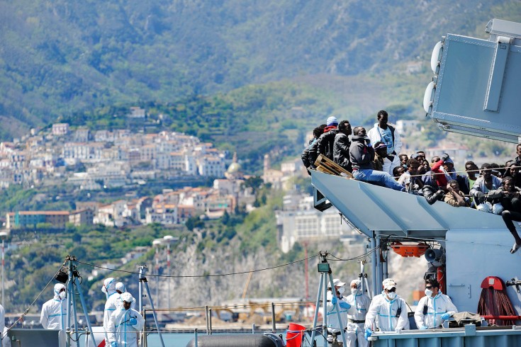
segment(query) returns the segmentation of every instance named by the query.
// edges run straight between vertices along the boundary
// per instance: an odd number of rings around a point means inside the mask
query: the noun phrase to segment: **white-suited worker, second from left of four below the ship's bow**
[[[351,281],[351,295],[346,297],[346,302],[351,305],[347,310],[347,347],[367,347],[369,342],[364,339],[364,324],[366,314],[371,306],[371,298],[362,292],[360,280]]]

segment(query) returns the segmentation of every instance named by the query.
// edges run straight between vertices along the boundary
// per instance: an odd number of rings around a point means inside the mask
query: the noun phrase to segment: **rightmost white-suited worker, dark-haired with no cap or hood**
[[[439,290],[439,283],[435,278],[425,280],[425,297],[422,297],[416,307],[414,320],[418,329],[436,328],[458,312],[456,306],[447,295]]]

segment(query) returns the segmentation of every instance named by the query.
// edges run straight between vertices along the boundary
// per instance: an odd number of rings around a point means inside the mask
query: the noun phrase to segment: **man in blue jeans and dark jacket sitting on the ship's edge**
[[[358,181],[378,182],[387,188],[405,191],[405,187],[396,182],[387,172],[373,170],[371,161],[374,160],[374,148],[364,127],[353,129],[349,158],[353,166],[353,176]]]

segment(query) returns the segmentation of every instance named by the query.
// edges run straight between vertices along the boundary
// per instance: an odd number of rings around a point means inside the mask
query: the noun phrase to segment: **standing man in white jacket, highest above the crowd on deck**
[[[378,123],[374,124],[374,127],[367,132],[367,136],[371,139],[371,144],[376,142],[383,142],[387,146],[387,157],[383,162],[383,171],[388,174],[393,173],[393,169],[400,165],[400,158],[398,153],[402,149],[402,142],[400,140],[400,132],[387,124],[388,114],[385,110],[380,110],[376,115]]]

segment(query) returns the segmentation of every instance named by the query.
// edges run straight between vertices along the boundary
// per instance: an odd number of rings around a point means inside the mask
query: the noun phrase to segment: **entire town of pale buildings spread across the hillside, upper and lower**
[[[129,117],[145,114],[131,108]],[[232,157],[231,159],[227,159]],[[323,215],[312,208],[313,199],[292,186],[291,178],[307,176],[300,159],[271,167],[269,154],[264,156],[262,182],[284,188],[283,210],[277,213],[279,241],[287,252],[299,239],[340,237],[347,227],[337,224],[337,212]],[[30,135],[13,142],[0,143],[0,187],[25,188],[65,185],[77,194],[121,189],[131,191],[163,181],[211,178],[213,185],[187,184],[182,188],[163,188],[151,196],[127,196],[102,203],[96,199],[75,200],[75,210],[13,210],[6,213],[4,227],[11,229],[64,229],[67,225],[131,227],[162,224],[173,227],[191,217],[215,219],[233,214],[237,207],[254,209],[254,192],[245,188],[245,176],[237,160],[219,151],[212,143],[179,132],[143,133],[130,130],[72,129],[56,123],[45,130],[31,130]],[[301,212],[296,213],[296,209]],[[332,218],[337,227],[330,229]],[[327,233],[324,230],[328,229]]]

